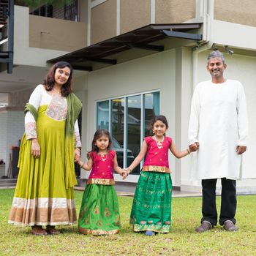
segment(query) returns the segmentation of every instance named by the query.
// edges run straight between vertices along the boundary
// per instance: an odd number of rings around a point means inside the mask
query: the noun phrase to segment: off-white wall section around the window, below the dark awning
[[[167,50],[89,73],[87,150],[96,129],[96,101],[151,90],[160,91],[160,113],[167,117],[167,135],[176,137],[176,51]],[[170,158],[175,180],[175,162]],[[130,176],[127,181],[129,181]],[[116,177],[118,180],[118,176]]]

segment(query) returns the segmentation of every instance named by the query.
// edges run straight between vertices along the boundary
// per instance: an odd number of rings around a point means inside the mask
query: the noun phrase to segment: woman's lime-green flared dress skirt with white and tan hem
[[[40,106],[37,116],[39,158],[31,156],[31,140],[23,135],[11,224],[70,225],[76,221],[73,188],[66,189],[64,179],[66,120],[56,121],[45,115],[46,110],[47,105]],[[70,152],[74,152],[75,139],[70,145]]]

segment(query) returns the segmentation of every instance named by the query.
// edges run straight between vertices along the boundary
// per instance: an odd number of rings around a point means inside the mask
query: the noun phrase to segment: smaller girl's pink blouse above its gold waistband
[[[90,157],[92,161],[94,162],[91,173],[89,176],[90,178],[104,178],[104,179],[110,179],[113,180],[113,162],[114,157],[116,156],[116,151],[110,150],[108,154],[104,156],[106,159],[105,161],[102,160],[102,157],[97,154],[97,152],[91,152]]]

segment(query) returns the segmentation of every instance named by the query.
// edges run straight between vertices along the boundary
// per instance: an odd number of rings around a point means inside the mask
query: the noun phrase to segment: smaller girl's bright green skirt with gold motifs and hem
[[[120,230],[118,197],[112,185],[87,184],[78,229],[83,234],[111,235]]]

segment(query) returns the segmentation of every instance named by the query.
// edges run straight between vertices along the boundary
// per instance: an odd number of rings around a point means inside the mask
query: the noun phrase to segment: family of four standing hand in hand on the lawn
[[[224,78],[226,64],[222,53],[216,50],[209,54],[207,69],[211,80],[199,83],[192,97],[189,148],[179,151],[173,139],[165,135],[168,129],[165,116],[154,116],[151,122],[154,135],[143,140],[138,157],[129,167],[121,169],[106,129],[95,132],[88,161],[82,161],[77,121],[81,102],[72,93],[72,67],[64,61],[53,65],[26,105],[26,132],[20,146],[20,172],[9,222],[31,226],[31,233],[37,236],[59,234],[57,225],[72,225],[76,221],[75,159],[81,168],[91,170],[80,207],[79,232],[116,234],[121,224],[113,170],[125,179],[145,157],[130,224],[135,232],[146,236],[168,233],[172,195],[170,149],[177,158],[197,151],[196,173],[203,187],[203,217],[196,231],[201,233],[217,225],[217,178],[222,181],[219,224],[227,231],[238,230],[236,179],[241,178],[241,154],[246,151],[246,99],[241,83]]]

